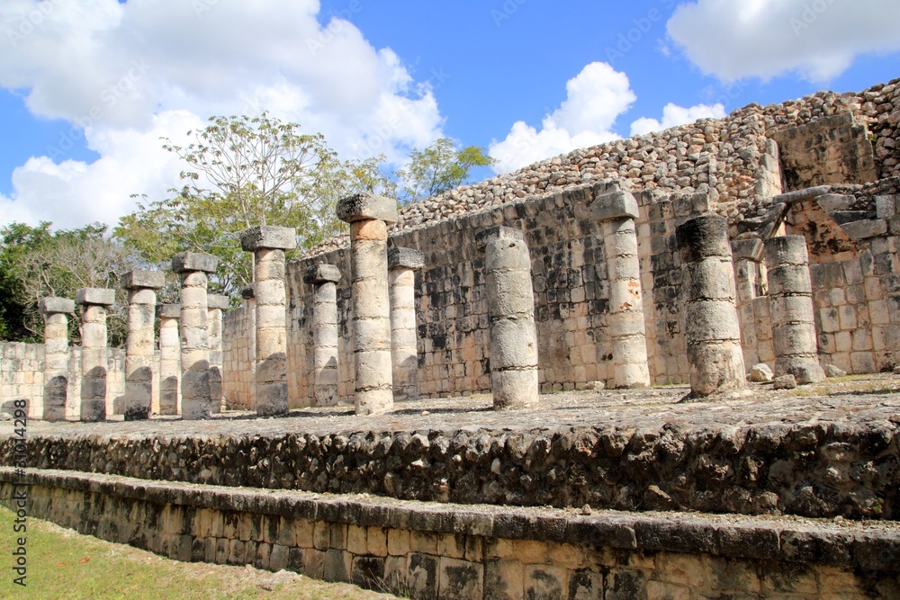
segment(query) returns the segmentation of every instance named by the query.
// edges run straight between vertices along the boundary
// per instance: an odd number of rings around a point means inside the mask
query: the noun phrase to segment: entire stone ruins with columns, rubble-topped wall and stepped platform
[[[900,80],[336,212],[247,228],[240,298],[128,273],[124,349],[112,288],[40,300],[30,515],[412,598],[900,598]]]

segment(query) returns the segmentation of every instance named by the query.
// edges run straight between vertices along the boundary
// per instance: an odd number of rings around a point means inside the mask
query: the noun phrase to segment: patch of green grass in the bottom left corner
[[[103,542],[56,524],[28,518],[27,587],[12,570],[14,515],[0,507],[0,598],[93,600],[356,600],[393,598],[355,586],[329,584],[283,571],[187,563],[130,546]]]

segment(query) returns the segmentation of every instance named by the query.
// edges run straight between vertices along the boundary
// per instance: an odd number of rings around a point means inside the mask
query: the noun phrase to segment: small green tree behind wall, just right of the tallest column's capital
[[[456,149],[454,140],[437,139],[419,151],[414,148],[410,164],[397,175],[403,184],[403,201],[419,201],[448,192],[462,185],[476,166],[491,166],[495,161],[484,148],[467,146]]]

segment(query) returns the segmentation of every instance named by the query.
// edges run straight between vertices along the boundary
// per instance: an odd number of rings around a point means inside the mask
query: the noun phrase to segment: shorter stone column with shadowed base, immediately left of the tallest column
[[[314,406],[338,406],[338,282],[334,264],[313,264],[303,274],[312,289]]]

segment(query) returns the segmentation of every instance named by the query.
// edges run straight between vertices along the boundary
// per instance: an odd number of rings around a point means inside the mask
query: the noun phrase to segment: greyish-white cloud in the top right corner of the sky
[[[696,0],[678,6],[668,31],[724,81],[797,72],[824,82],[861,54],[900,50],[897,22],[896,0]]]

